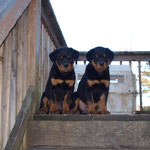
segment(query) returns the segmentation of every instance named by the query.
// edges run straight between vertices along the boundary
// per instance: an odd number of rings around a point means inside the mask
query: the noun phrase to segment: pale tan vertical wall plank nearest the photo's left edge
[[[11,45],[12,34],[10,33],[4,49],[4,68],[3,68],[3,104],[2,104],[2,118],[3,118],[3,147],[5,146],[10,132],[10,89],[11,89]]]

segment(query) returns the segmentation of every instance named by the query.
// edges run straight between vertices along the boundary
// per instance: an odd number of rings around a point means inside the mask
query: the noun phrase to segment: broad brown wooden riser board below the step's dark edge
[[[32,146],[149,148],[149,121],[32,121]]]

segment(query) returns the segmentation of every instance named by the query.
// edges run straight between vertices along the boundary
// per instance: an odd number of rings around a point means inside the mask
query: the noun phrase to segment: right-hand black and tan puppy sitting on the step
[[[103,47],[91,49],[86,58],[89,64],[73,96],[72,111],[77,112],[78,105],[82,112],[89,114],[109,114],[107,97],[109,92],[109,64],[114,53]]]

